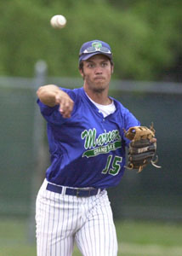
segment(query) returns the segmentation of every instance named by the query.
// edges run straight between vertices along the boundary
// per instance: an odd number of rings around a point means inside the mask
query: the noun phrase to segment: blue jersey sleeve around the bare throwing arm
[[[76,95],[74,93],[73,90],[70,89],[65,89],[65,88],[61,88],[60,90],[64,90],[73,100],[73,102],[76,102]],[[65,118],[62,117],[59,108],[59,105],[55,105],[54,107],[49,107],[47,105],[45,105],[43,102],[40,101],[40,99],[37,99],[37,104],[40,108],[40,111],[44,117],[44,119],[46,119],[49,123],[53,123],[53,124],[62,124],[65,122]],[[73,108],[73,111],[71,114],[73,114],[75,111],[75,105]]]

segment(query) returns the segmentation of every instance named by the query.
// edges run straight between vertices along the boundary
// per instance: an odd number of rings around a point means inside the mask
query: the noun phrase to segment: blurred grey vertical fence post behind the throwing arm
[[[31,207],[28,227],[28,241],[35,242],[36,238],[36,224],[35,224],[35,209],[36,209],[36,197],[37,191],[43,182],[43,173],[45,173],[45,166],[48,162],[45,154],[46,145],[44,143],[44,121],[37,106],[37,94],[38,87],[46,84],[47,79],[47,63],[45,61],[37,61],[35,64],[35,79],[33,88],[33,97],[35,98],[34,108],[34,123],[33,123],[33,166],[32,180],[31,180]]]

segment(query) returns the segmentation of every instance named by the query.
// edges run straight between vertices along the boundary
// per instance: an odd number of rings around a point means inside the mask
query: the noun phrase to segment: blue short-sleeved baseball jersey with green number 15
[[[111,98],[116,111],[104,118],[88,99],[83,88],[64,89],[73,100],[71,118],[62,117],[59,105],[37,103],[47,120],[51,164],[46,178],[50,183],[75,188],[108,188],[120,182],[129,141],[124,131],[140,125],[121,102]]]

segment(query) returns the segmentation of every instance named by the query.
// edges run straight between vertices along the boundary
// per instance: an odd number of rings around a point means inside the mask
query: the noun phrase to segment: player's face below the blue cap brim
[[[109,89],[113,66],[105,55],[94,55],[83,61],[80,73],[84,79],[84,88],[93,92],[102,92]]]

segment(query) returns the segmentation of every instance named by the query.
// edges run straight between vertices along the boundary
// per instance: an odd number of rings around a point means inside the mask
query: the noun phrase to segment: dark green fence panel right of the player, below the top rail
[[[160,85],[160,84],[159,84]],[[120,195],[113,203],[117,217],[182,219],[182,172],[180,125],[182,97],[172,95],[122,95],[121,102],[143,125],[153,121],[157,137],[158,165],[147,166],[143,172],[125,172],[122,183],[111,191]],[[122,212],[122,213],[121,213]]]

